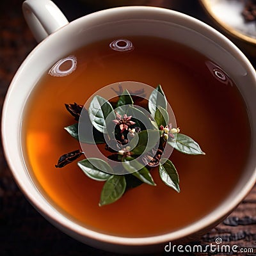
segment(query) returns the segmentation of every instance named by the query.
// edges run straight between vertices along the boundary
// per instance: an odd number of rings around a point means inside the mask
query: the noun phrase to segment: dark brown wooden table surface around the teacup
[[[65,11],[69,20],[98,10],[99,5],[84,6],[81,1],[54,1]],[[95,1],[100,2],[100,1]],[[154,1],[153,1],[154,2]],[[172,8],[187,13],[215,26],[205,15],[196,0],[155,1],[157,4],[172,4]],[[4,95],[20,63],[35,47],[36,42],[26,25],[21,12],[22,0],[0,1],[0,106]],[[219,29],[219,28],[217,28]],[[231,38],[248,56],[256,67],[252,47],[241,44]],[[254,55],[254,56],[253,56]],[[223,244],[237,244],[239,248],[254,248],[253,253],[236,255],[256,255],[256,187],[223,221],[211,232],[193,244],[207,245],[221,237]],[[179,253],[178,253],[179,254]],[[177,255],[178,255],[177,254]],[[232,253],[214,253],[231,255]],[[234,253],[233,253],[234,254]],[[0,255],[115,255],[96,250],[68,237],[49,224],[28,203],[13,181],[12,174],[0,147]],[[156,255],[170,255],[158,253]],[[198,253],[180,253],[180,255],[199,255]],[[201,254],[202,255],[202,254]],[[205,253],[204,255],[209,255]]]

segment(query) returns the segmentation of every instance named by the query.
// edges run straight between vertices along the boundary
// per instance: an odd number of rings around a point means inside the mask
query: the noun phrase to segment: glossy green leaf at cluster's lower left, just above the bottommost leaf
[[[111,176],[109,173],[113,173],[111,166],[99,158],[84,159],[77,164],[93,180],[108,180]]]

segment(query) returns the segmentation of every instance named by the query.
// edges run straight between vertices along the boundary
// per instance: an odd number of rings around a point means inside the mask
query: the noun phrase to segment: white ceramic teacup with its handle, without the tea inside
[[[70,23],[49,0],[27,0],[23,4],[23,10],[36,40],[42,42],[22,63],[6,95],[2,119],[3,147],[20,189],[47,220],[77,240],[97,248],[115,252],[145,253],[157,248],[163,250],[163,244],[169,241],[184,243],[189,239],[196,239],[223,220],[243,200],[256,180],[256,74],[250,62],[232,42],[203,22],[162,8],[146,6],[114,8],[86,15]],[[188,44],[189,47],[220,63],[227,73],[236,73],[235,82],[246,101],[250,116],[252,129],[250,157],[239,184],[227,198],[223,198],[222,204],[207,216],[168,234],[119,237],[82,227],[55,209],[40,194],[29,177],[22,157],[20,122],[24,104],[45,70],[49,70],[52,63],[62,56],[83,45],[104,38],[118,38],[124,33],[127,36],[157,36]],[[236,65],[232,65],[232,62],[236,62]]]

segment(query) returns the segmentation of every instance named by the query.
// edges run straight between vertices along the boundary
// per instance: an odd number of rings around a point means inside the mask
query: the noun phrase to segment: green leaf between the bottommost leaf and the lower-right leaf
[[[129,157],[129,159],[125,159],[122,164],[127,172],[131,173],[142,182],[152,186],[156,186],[156,183],[150,175],[150,172],[145,166],[143,166],[143,164],[139,163],[132,157]]]

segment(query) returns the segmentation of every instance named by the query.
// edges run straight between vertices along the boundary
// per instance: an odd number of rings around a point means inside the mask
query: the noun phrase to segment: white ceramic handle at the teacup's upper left
[[[68,24],[65,15],[50,0],[26,0],[22,4],[22,10],[38,43]]]

